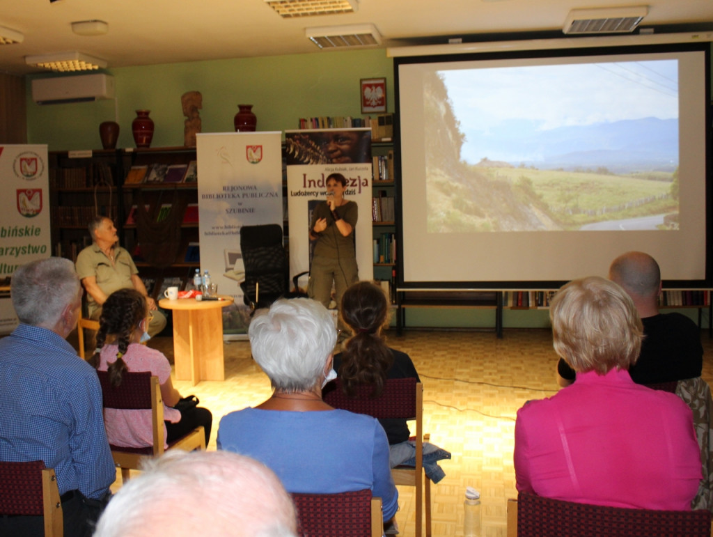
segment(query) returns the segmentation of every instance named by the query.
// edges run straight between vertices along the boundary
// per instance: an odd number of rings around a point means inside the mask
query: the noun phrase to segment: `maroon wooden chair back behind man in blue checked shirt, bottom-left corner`
[[[0,515],[43,516],[44,533],[62,537],[62,503],[54,470],[43,461],[0,462]]]

